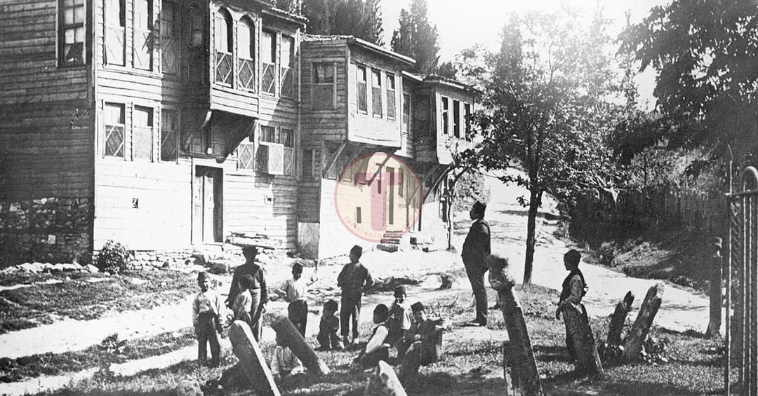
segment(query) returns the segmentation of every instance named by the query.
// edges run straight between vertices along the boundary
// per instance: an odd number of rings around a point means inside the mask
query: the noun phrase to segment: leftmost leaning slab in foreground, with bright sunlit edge
[[[268,369],[265,357],[252,336],[250,326],[242,320],[235,320],[229,327],[229,339],[232,349],[243,374],[251,384],[255,384],[258,394],[264,396],[280,396],[279,388],[274,382],[274,376]]]

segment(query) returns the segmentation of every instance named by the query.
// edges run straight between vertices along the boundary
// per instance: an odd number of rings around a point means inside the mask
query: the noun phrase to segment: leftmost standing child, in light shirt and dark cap
[[[223,305],[218,294],[208,290],[208,273],[197,274],[197,284],[200,287],[200,292],[195,296],[192,306],[192,322],[195,326],[198,343],[197,360],[201,363],[208,360],[206,345],[210,342],[210,365],[218,367],[221,363],[221,346],[218,344],[218,334],[223,330],[219,318],[224,312]]]

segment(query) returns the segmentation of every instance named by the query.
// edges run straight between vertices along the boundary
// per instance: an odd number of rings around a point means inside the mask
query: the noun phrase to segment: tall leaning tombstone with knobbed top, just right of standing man
[[[497,291],[500,301],[500,310],[503,311],[503,320],[506,322],[506,329],[509,336],[509,354],[503,359],[504,364],[509,364],[515,377],[513,383],[521,390],[525,396],[542,395],[542,383],[540,382],[540,373],[537,372],[537,363],[534,361],[534,351],[531,348],[531,341],[526,329],[524,312],[518,297],[513,292],[515,280],[508,272],[508,260],[491,254],[486,260],[487,267],[490,270],[489,280],[490,287]],[[503,352],[506,348],[503,348]],[[509,371],[503,367],[504,371]],[[516,382],[518,382],[516,384]],[[514,385],[509,385],[506,376],[506,391],[513,391]],[[510,388],[510,389],[509,389]],[[509,393],[512,394],[512,393]]]

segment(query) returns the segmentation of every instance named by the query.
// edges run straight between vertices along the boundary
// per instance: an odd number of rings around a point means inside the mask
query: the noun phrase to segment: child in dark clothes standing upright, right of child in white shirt
[[[359,263],[363,255],[363,248],[355,245],[350,249],[350,262],[345,264],[340,275],[337,276],[337,287],[342,288],[342,308],[340,310],[340,325],[342,326],[342,338],[345,348],[350,345],[347,338],[352,324],[352,341],[358,339],[358,318],[361,315],[361,298],[363,297],[364,285],[366,288],[374,285],[374,279],[368,273],[366,267]]]

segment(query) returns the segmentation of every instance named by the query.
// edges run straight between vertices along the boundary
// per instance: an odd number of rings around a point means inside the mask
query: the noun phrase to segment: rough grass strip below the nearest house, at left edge
[[[62,281],[58,283],[42,283]],[[0,292],[0,334],[52,323],[58,318],[96,319],[181,301],[196,292],[193,276],[171,270],[105,274],[2,273],[0,285],[29,287]]]

